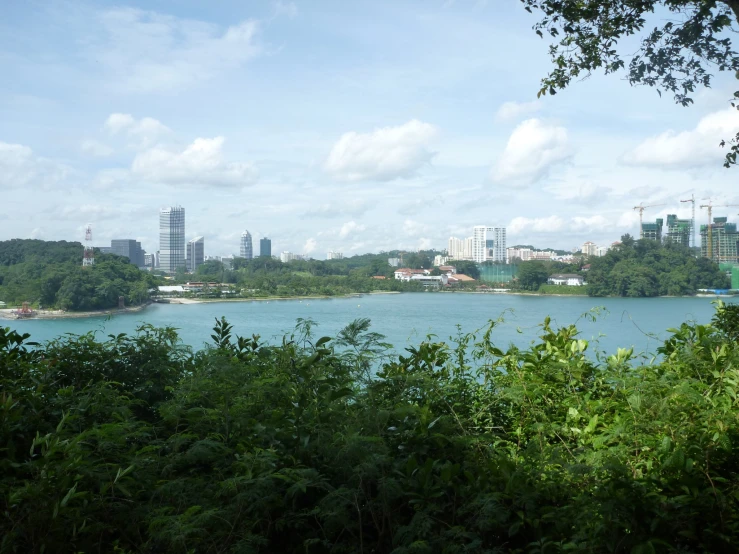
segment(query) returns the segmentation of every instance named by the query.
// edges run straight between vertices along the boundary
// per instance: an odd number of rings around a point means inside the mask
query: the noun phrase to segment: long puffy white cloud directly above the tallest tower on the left
[[[131,172],[153,183],[243,187],[256,179],[248,163],[223,159],[223,137],[198,138],[183,151],[157,146],[136,155]]]

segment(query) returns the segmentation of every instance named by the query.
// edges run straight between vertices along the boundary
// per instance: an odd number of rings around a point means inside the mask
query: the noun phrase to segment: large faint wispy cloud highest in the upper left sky
[[[99,15],[90,57],[111,74],[117,91],[176,90],[240,67],[259,54],[258,24],[248,20],[222,29],[134,8]]]

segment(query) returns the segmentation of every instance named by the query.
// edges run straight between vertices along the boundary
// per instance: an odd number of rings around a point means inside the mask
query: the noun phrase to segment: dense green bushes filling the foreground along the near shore
[[[646,361],[313,331],[0,330],[0,551],[736,550],[739,307]]]

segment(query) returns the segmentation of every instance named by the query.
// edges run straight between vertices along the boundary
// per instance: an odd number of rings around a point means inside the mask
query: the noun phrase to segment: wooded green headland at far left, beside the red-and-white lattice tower
[[[126,258],[97,254],[82,268],[82,245],[72,242],[14,239],[0,242],[0,300],[30,302],[65,310],[94,310],[149,298],[154,279]]]

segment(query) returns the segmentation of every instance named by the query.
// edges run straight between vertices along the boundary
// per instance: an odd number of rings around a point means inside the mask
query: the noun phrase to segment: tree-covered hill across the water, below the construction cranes
[[[680,296],[701,288],[728,288],[728,277],[707,258],[690,249],[654,240],[633,240],[600,258],[592,258],[588,272],[590,296]]]

